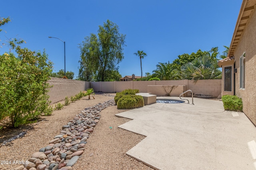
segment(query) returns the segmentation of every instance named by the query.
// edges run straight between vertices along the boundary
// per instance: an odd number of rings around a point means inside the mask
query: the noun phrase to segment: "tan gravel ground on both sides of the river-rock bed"
[[[95,99],[91,100],[88,100],[88,97],[83,97],[69,106],[64,106],[62,110],[54,111],[51,116],[42,117],[41,121],[30,125],[30,129],[24,137],[0,147],[0,170],[11,170],[20,166],[21,162],[28,160],[34,152],[46,147],[49,141],[60,133],[62,126],[73,119],[81,110],[110,99],[113,97],[97,94]],[[144,136],[118,128],[118,125],[129,121],[129,119],[115,116],[116,113],[122,111],[126,110],[118,110],[116,106],[110,106],[100,112],[102,117],[87,140],[86,149],[73,166],[73,170],[152,169],[125,154],[144,139]],[[14,131],[15,129],[0,129],[0,139],[8,139],[10,137],[8,134],[15,134]],[[17,131],[22,131],[22,129],[17,129]],[[1,164],[5,163],[3,161],[10,161],[11,164]],[[14,164],[14,161],[19,162]]]

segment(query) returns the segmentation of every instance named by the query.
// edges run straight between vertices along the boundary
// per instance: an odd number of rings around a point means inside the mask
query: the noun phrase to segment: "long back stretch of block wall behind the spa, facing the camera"
[[[162,80],[162,81],[125,81],[125,82],[90,82],[90,88],[96,92],[121,92],[125,89],[139,89],[141,93],[152,93],[157,96],[165,94],[164,85],[179,86],[171,96],[179,96],[186,90],[192,90],[195,97],[221,98],[221,79],[216,80]],[[187,97],[191,93],[186,93]]]

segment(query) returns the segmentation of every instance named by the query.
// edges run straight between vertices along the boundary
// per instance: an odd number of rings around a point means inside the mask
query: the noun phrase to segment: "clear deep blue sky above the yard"
[[[142,60],[143,76],[152,73],[158,62],[174,61],[178,55],[209,51],[229,46],[242,0],[3,0],[0,17],[12,22],[1,27],[0,39],[26,41],[23,47],[35,51],[46,49],[54,63],[54,72],[64,69],[78,76],[78,44],[98,26],[110,20],[126,34],[124,59],[119,64],[122,76],[140,76],[140,59],[133,53],[148,54]],[[0,54],[8,46],[0,48]]]

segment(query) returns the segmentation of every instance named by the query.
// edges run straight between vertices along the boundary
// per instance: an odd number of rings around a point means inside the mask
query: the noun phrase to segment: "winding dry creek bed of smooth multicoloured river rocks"
[[[100,111],[114,105],[112,99],[84,109],[62,127],[48,146],[33,153],[26,164],[14,170],[72,170],[100,119]]]

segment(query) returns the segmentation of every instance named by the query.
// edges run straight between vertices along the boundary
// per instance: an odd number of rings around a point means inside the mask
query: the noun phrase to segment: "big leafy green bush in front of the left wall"
[[[45,53],[21,48],[24,41],[13,39],[10,46],[14,54],[0,56],[0,120],[10,117],[12,127],[38,119],[48,113],[49,75],[52,63]]]

